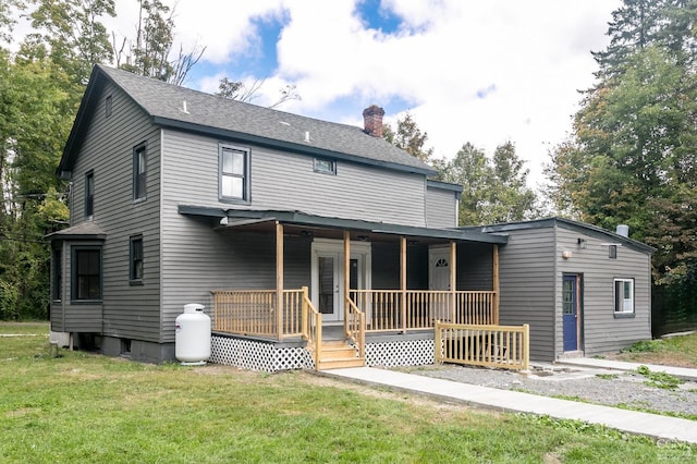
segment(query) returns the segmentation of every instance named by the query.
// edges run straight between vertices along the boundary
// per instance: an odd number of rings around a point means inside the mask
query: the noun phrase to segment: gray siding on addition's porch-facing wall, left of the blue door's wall
[[[554,230],[509,232],[499,251],[499,321],[530,326],[530,359],[554,359]]]

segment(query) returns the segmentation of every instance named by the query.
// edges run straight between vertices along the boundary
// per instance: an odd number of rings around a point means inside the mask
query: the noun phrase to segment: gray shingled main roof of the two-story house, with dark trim
[[[107,82],[121,88],[155,124],[243,143],[433,175],[419,159],[362,127],[321,121],[97,64],[89,78],[58,174],[70,171]]]

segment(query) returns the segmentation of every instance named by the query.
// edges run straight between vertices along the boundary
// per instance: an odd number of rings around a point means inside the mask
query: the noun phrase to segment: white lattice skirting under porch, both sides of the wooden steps
[[[433,364],[433,340],[366,343],[367,366],[423,366]],[[212,335],[210,363],[276,373],[314,369],[310,353],[302,346],[277,346],[255,340]]]

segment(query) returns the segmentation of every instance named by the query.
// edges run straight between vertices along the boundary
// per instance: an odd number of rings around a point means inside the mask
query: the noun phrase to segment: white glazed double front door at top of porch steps
[[[311,247],[311,300],[322,321],[344,318],[343,241],[315,239]],[[370,288],[370,244],[351,243],[348,285],[353,290]]]

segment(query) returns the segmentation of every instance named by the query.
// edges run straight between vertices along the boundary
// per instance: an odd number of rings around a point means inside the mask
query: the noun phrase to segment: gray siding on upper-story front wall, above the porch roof
[[[218,200],[218,148],[250,150],[250,202]],[[426,225],[421,174],[338,161],[337,174],[314,172],[313,157],[164,131],[163,184],[172,204],[296,210],[309,215]]]

